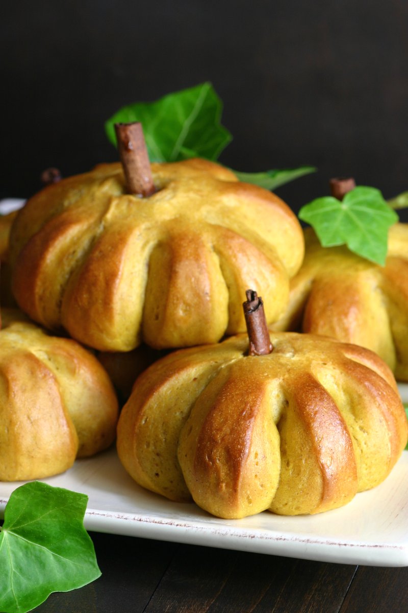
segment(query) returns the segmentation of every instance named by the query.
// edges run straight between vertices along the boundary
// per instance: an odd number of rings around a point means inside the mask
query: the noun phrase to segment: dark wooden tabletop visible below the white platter
[[[408,567],[309,562],[91,533],[102,577],[38,613],[406,613]]]

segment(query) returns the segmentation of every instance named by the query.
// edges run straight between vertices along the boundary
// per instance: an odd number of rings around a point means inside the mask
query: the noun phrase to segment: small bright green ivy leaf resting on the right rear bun
[[[309,223],[324,247],[347,245],[376,264],[385,264],[388,229],[398,215],[375,188],[357,186],[343,200],[333,196],[317,198],[299,211],[299,218]]]

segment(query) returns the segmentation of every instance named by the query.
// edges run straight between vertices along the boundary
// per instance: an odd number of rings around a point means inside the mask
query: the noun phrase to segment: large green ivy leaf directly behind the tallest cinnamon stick
[[[221,126],[223,105],[211,83],[202,83],[155,102],[123,107],[105,123],[108,139],[116,145],[115,123],[140,121],[152,162],[175,162],[201,157],[216,160],[231,141]]]

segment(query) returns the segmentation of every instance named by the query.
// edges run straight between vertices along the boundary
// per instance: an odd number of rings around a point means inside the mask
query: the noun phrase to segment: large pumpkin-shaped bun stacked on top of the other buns
[[[125,194],[121,165],[104,164],[28,201],[10,235],[23,311],[102,351],[243,331],[248,287],[276,321],[303,259],[292,211],[213,162],[152,164],[152,173],[148,198]]]

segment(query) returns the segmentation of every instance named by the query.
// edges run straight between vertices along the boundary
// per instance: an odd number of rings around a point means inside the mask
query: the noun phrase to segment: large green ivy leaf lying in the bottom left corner
[[[0,528],[0,611],[31,611],[52,592],[100,576],[83,526],[86,504],[86,495],[40,481],[14,490]]]

